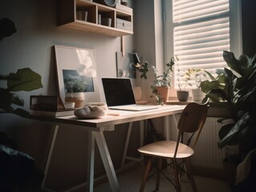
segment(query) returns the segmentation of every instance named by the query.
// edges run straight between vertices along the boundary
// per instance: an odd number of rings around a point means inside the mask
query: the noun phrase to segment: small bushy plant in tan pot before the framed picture
[[[75,108],[84,105],[84,91],[87,89],[87,82],[78,78],[67,78],[64,80],[65,101],[75,102]]]

